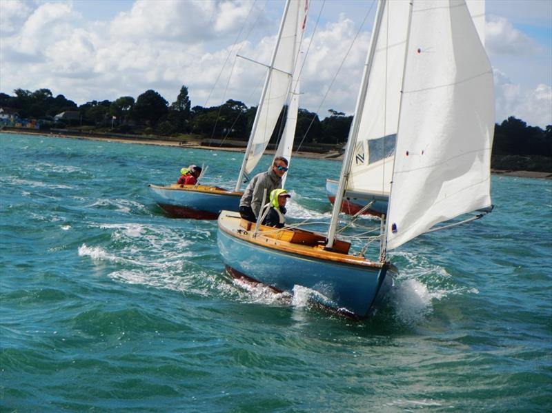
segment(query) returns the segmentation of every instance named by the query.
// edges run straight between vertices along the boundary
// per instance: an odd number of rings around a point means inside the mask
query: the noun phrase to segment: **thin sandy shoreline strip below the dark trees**
[[[226,152],[245,152],[245,148],[229,148],[229,147],[213,147],[213,146],[204,146],[197,145],[195,143],[181,143],[179,141],[168,141],[163,139],[132,139],[132,138],[119,138],[119,137],[91,137],[83,135],[72,135],[72,134],[54,134],[54,133],[44,133],[44,132],[28,132],[28,131],[11,131],[11,130],[0,130],[2,133],[19,133],[27,135],[35,135],[41,137],[57,137],[57,138],[68,138],[68,139],[84,139],[87,141],[108,141],[108,142],[117,142],[117,143],[132,143],[139,145],[158,145],[158,146],[173,146],[175,148],[186,148],[186,149],[201,149],[201,150],[224,150]],[[274,154],[275,150],[266,150],[266,154]],[[299,158],[308,158],[308,159],[322,159],[324,161],[342,161],[343,155],[338,152],[326,152],[324,154],[315,153],[315,152],[293,152],[294,157]],[[534,179],[552,179],[552,172],[534,172],[526,170],[495,170],[491,169],[491,174],[502,175],[504,177],[517,177],[517,178],[534,178]]]

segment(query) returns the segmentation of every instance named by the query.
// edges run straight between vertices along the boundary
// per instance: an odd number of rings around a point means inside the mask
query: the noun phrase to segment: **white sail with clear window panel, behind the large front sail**
[[[370,67],[366,102],[359,117],[348,188],[389,194],[399,119],[408,1],[383,3],[382,26],[373,34],[375,53]]]

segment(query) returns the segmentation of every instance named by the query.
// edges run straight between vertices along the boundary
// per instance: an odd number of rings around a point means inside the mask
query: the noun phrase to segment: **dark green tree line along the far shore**
[[[176,101],[168,103],[155,90],[146,90],[136,99],[119,97],[115,101],[89,101],[77,105],[63,94],[54,97],[49,89],[34,92],[16,89],[14,96],[0,93],[0,108],[17,110],[23,119],[38,119],[41,128],[88,127],[121,133],[146,133],[165,136],[197,134],[201,137],[246,141],[255,119],[257,107],[230,99],[219,106],[204,108],[192,106],[188,88],[182,85]],[[280,114],[279,127],[273,133],[276,141],[284,129],[285,109]],[[78,117],[58,119],[61,112],[72,112]],[[328,110],[329,116],[319,119],[306,109],[297,114],[296,141],[304,143],[344,144],[348,137],[352,116],[337,110]],[[552,125],[543,130],[529,126],[521,119],[509,117],[495,124],[493,154],[552,156]]]

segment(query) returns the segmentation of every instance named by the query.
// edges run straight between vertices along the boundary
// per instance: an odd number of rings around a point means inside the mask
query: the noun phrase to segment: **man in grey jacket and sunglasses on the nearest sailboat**
[[[239,215],[248,221],[257,221],[262,205],[268,202],[270,192],[282,188],[282,177],[287,171],[288,160],[284,157],[275,157],[268,171],[255,175],[239,201]],[[265,189],[266,198],[262,199]]]

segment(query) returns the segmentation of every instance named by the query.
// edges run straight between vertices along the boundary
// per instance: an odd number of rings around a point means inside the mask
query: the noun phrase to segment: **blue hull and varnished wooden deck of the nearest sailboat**
[[[254,226],[236,212],[219,215],[219,250],[235,278],[262,281],[279,292],[302,285],[319,292],[318,303],[351,318],[367,316],[391,288],[393,265],[348,254],[349,243],[329,251],[326,236],[264,225],[251,236]]]

